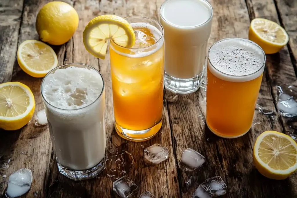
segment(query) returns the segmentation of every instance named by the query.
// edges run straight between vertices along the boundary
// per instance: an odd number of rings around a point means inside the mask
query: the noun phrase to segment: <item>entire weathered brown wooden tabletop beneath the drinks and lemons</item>
[[[211,0],[214,18],[208,47],[226,37],[247,38],[250,21],[259,17],[281,24],[289,34],[287,46],[279,53],[267,55],[257,101],[264,113],[273,111],[272,114],[263,114],[257,108],[252,129],[246,135],[237,139],[222,139],[214,136],[206,127],[204,88],[187,95],[164,91],[163,127],[153,139],[138,143],[123,140],[116,134],[113,127],[109,57],[99,60],[91,56],[83,46],[82,33],[89,20],[103,14],[123,17],[144,15],[158,19],[163,0],[66,2],[78,12],[79,26],[69,42],[53,48],[60,65],[72,62],[89,64],[99,69],[104,77],[108,135],[106,169],[96,178],[80,182],[59,174],[48,127],[35,127],[31,120],[20,130],[0,132],[0,196],[7,185],[8,176],[26,167],[33,171],[34,183],[23,197],[30,198],[117,197],[112,182],[122,175],[132,178],[140,187],[140,193],[148,190],[156,197],[163,198],[191,197],[200,183],[215,175],[220,175],[228,186],[228,193],[224,197],[297,197],[296,173],[285,180],[270,180],[260,175],[252,163],[253,145],[260,133],[276,130],[292,134],[297,129],[296,120],[282,117],[276,108],[278,86],[297,99],[296,0]],[[35,112],[43,109],[40,96],[42,79],[31,77],[20,69],[16,51],[23,41],[38,39],[35,18],[45,3],[47,0],[0,0],[0,82],[19,81],[28,85],[35,96]],[[169,158],[161,164],[148,166],[143,162],[143,150],[154,143],[168,147]],[[187,173],[179,168],[181,152],[188,147],[207,156],[206,166]],[[3,175],[7,175],[7,178]]]

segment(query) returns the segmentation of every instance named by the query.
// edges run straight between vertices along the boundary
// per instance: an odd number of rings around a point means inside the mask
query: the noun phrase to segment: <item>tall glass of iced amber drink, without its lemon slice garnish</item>
[[[162,126],[164,36],[151,18],[125,18],[135,32],[132,48],[110,40],[110,70],[116,132],[123,138],[144,141]]]

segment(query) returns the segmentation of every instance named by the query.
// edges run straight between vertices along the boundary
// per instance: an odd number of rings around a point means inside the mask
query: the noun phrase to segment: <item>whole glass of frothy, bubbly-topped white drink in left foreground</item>
[[[40,90],[60,173],[94,178],[105,167],[102,75],[85,64],[66,64],[50,71]]]

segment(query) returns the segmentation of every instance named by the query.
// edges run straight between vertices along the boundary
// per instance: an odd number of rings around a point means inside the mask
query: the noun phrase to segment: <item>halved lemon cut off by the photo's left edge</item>
[[[0,84],[0,128],[17,130],[32,118],[34,95],[29,87],[19,82]]]

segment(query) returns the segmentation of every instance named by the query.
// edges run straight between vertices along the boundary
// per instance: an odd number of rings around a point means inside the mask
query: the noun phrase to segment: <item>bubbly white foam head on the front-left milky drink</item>
[[[98,114],[98,108],[104,112],[102,76],[91,67],[75,65],[56,69],[46,75],[41,84],[47,116],[59,118],[61,122],[91,121],[91,117]]]

